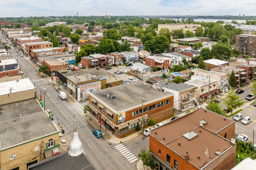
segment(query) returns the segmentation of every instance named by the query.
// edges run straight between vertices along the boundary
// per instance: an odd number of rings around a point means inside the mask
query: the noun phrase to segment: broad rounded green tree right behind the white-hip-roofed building
[[[216,43],[212,45],[212,54],[215,58],[220,57],[220,60],[221,58],[229,60],[232,56],[232,49],[225,44]]]

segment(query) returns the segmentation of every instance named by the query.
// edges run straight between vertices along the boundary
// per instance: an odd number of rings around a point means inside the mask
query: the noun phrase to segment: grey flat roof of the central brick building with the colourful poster
[[[143,96],[146,98],[146,101],[143,104],[146,105],[155,100],[160,100],[162,98],[170,97],[173,95],[170,92],[163,93],[159,92],[158,90],[154,90],[153,88],[151,88],[152,90],[148,90],[149,84],[144,86],[144,83],[145,82],[143,81],[137,81],[128,84],[122,84],[120,86],[114,86],[111,88],[94,91],[89,93],[89,95],[97,99],[97,101],[100,101],[101,104],[111,109],[114,113],[141,106],[142,103],[140,97]],[[116,100],[110,100],[107,95],[115,95]]]

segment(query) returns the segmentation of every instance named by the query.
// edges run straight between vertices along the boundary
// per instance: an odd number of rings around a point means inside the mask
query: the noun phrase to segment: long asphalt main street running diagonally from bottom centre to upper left
[[[11,47],[11,54],[17,60],[17,49],[12,45],[9,46]],[[39,99],[40,91],[43,90],[45,84],[47,90],[45,95],[45,108],[50,109],[53,112],[53,115],[59,119],[60,126],[64,128],[68,138],[71,140],[73,138],[73,119],[71,116],[76,114],[76,121],[74,123],[75,128],[77,132],[79,132],[79,138],[82,142],[84,152],[96,169],[136,169],[138,160],[129,162],[129,159],[126,159],[120,151],[115,148],[117,144],[110,145],[104,137],[96,138],[92,134],[92,130],[94,129],[93,125],[83,117],[83,110],[79,110],[76,107],[79,103],[71,103],[68,100],[61,100],[58,97],[58,90],[51,85],[51,82],[37,75],[38,69],[30,64],[30,58],[25,55],[21,57],[18,54],[18,64],[21,66],[21,71],[24,72],[25,78],[27,70],[27,77],[35,84]],[[43,93],[42,96],[44,98]],[[126,143],[130,142],[128,141]],[[133,145],[130,146],[126,143],[123,143],[123,145],[124,147],[127,147],[127,149],[130,149],[130,147],[135,148]],[[140,151],[139,148],[136,148],[135,150]],[[134,156],[138,157],[138,154],[134,154]]]

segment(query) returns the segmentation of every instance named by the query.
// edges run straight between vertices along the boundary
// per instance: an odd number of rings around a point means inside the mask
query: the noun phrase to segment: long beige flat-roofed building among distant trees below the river
[[[193,32],[193,35],[196,34],[196,28],[201,27],[200,24],[158,24],[158,30],[161,28],[167,28],[170,30],[179,30],[183,29],[183,34],[186,33],[186,31],[191,31]]]

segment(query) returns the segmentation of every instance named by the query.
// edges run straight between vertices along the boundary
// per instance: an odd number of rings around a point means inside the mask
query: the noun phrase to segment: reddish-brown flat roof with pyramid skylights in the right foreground
[[[218,149],[224,152],[229,147],[233,146],[230,141],[215,133],[231,123],[235,123],[231,119],[224,119],[224,117],[219,114],[205,110],[206,109],[200,108],[185,114],[178,119],[174,119],[151,130],[150,135],[183,157],[185,157],[186,152],[189,152],[188,161],[202,168],[218,156],[215,154]],[[207,123],[203,124],[203,127],[200,127],[199,121],[203,119]],[[199,132],[199,130],[201,130],[201,132]],[[190,140],[182,136],[190,131],[198,135]],[[165,139],[163,139],[163,137],[165,137]],[[179,143],[181,143],[181,145],[179,145]],[[205,156],[206,148],[210,156]],[[198,156],[200,156],[200,159],[198,159]]]

